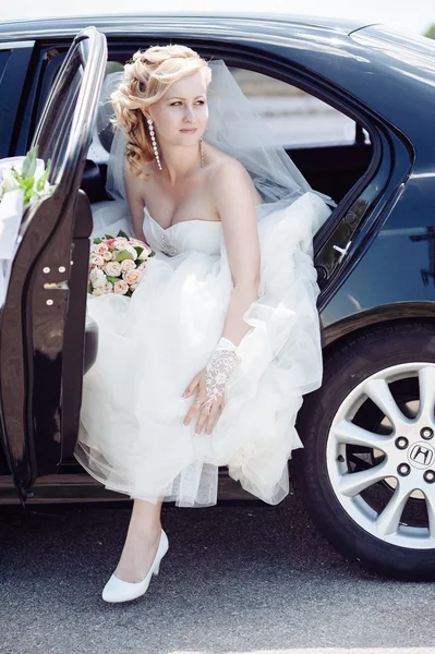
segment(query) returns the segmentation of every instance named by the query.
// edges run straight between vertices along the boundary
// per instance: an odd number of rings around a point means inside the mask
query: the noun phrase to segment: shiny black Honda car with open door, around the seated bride
[[[0,25],[0,157],[38,144],[57,184],[23,217],[1,308],[0,501],[120,497],[72,456],[98,347],[92,211],[109,199],[98,100],[108,72],[169,43],[223,59],[337,203],[314,244],[324,383],[298,416],[293,484],[347,557],[434,579],[435,45],[383,26],[193,14]],[[222,469],[219,497],[240,495]]]

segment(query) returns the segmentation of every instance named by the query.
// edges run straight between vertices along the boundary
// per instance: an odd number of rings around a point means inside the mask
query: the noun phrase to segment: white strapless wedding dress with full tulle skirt
[[[156,251],[132,298],[89,296],[98,356],[85,375],[77,460],[107,488],[178,506],[217,501],[218,467],[266,502],[289,491],[288,459],[302,447],[294,422],[302,395],[322,382],[312,240],[329,207],[306,192],[271,213],[258,205],[259,299],[244,315],[241,364],[210,435],[183,419],[182,393],[223,329],[232,280],[220,222],[161,228],[145,209]],[[129,230],[119,223],[119,228]],[[99,234],[101,235],[101,233]]]

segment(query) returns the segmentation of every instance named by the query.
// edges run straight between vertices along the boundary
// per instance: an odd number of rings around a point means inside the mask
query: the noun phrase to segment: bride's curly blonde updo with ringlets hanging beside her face
[[[185,46],[153,46],[138,50],[124,65],[121,84],[111,94],[116,118],[113,125],[123,130],[128,169],[147,179],[144,166],[155,158],[143,107],[157,102],[169,86],[186,75],[202,72],[206,85],[212,70],[205,59]]]

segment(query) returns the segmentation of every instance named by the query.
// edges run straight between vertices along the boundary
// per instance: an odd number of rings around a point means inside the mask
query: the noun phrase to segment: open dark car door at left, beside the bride
[[[33,140],[51,196],[23,217],[0,316],[0,437],[22,501],[77,438],[92,214],[80,191],[106,70],[106,37],[82,31]]]

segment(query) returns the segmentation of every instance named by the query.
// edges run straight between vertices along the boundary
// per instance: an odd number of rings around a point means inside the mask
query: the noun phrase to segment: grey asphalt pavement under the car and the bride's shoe
[[[0,652],[428,654],[435,586],[343,561],[292,495],[277,507],[166,505],[146,595],[108,605],[130,508],[0,509]]]

